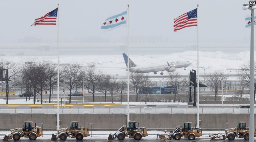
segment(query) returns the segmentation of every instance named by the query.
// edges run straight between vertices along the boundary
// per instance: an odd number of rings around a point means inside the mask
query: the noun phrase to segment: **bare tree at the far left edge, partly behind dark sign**
[[[17,77],[17,74],[19,73],[19,66],[17,63],[13,61],[1,59],[0,68],[8,70],[8,78],[7,78],[8,82],[10,82],[12,79],[15,79],[15,76]],[[4,76],[6,77],[7,72],[3,72],[3,73],[4,73]],[[1,81],[1,82],[6,85],[6,104],[8,104],[9,90],[12,88],[12,86],[9,86],[5,81]],[[15,82],[14,82],[14,86],[16,86]]]

